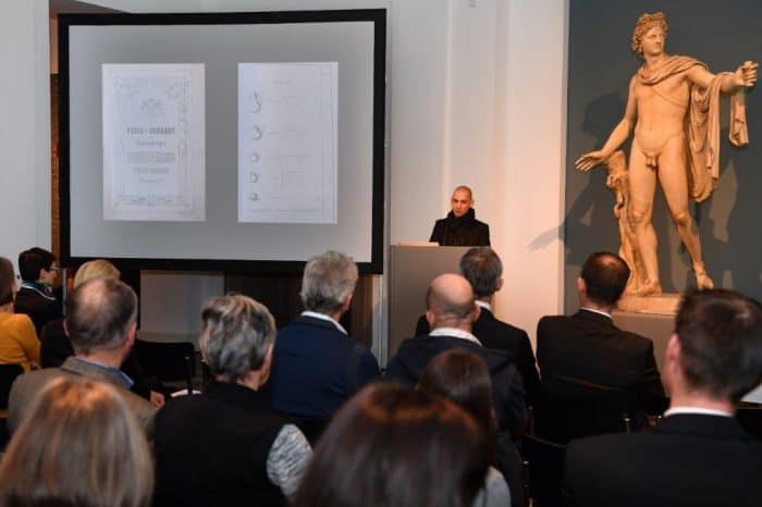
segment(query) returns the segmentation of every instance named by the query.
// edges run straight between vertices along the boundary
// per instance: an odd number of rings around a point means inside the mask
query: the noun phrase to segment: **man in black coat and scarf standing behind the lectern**
[[[455,188],[452,203],[447,217],[434,223],[429,240],[443,247],[490,246],[490,226],[476,219],[471,189],[465,185]]]

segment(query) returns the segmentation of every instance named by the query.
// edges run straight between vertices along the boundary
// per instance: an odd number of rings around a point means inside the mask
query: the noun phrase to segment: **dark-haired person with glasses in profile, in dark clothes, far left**
[[[19,253],[22,284],[16,295],[16,313],[26,313],[35,323],[37,336],[42,326],[61,317],[61,301],[53,294],[53,284],[60,271],[56,256],[35,247]]]

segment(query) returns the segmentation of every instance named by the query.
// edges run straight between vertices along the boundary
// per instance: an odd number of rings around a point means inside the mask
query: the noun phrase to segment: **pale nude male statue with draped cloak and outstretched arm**
[[[624,118],[603,148],[585,153],[575,162],[580,171],[591,170],[606,161],[635,129],[629,157],[629,220],[646,283],[634,295],[662,292],[656,235],[651,223],[656,178],[690,255],[699,288],[713,287],[688,202],[691,197],[697,201],[705,199],[716,185],[720,94],[734,94],[730,141],[742,146],[748,143],[742,90],[757,83],[757,63],[746,62],[735,73],[714,75],[698,60],[665,53],[666,34],[663,13],[640,16],[631,47],[644,63],[630,79]]]

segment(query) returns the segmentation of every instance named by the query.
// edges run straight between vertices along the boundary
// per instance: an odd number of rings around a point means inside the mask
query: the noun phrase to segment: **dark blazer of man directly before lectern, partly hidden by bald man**
[[[474,322],[474,336],[487,348],[505,350],[516,363],[527,393],[527,406],[534,404],[540,392],[540,375],[534,364],[534,353],[527,332],[495,318],[487,308],[480,308],[479,318]],[[416,336],[429,334],[429,322],[420,316],[416,325]]]

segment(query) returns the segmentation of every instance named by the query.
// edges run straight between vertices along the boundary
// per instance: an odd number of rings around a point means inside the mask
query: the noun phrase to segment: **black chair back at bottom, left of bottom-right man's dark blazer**
[[[562,490],[566,446],[532,435],[521,437],[525,503],[531,498],[534,507],[563,506]]]

